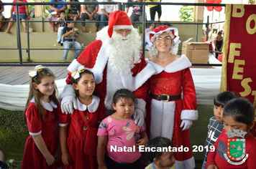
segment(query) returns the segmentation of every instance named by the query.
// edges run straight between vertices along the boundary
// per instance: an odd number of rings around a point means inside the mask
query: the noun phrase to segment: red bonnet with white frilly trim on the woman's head
[[[173,28],[173,27],[169,27],[169,26],[159,26],[155,29],[153,29],[151,32],[148,32],[146,34],[146,48],[147,50],[150,51],[153,42],[151,41],[152,37],[154,37],[155,34],[163,34],[164,32],[170,31],[173,33],[174,37],[173,37],[173,41],[175,43],[175,46],[178,47],[178,44],[180,43],[180,37],[178,36],[178,29],[177,28]]]

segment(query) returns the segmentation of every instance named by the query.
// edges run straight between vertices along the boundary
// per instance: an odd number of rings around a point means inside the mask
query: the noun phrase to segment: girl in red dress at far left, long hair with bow
[[[58,158],[59,103],[55,75],[50,69],[39,65],[29,71],[29,77],[29,97],[24,110],[29,137],[25,145],[22,169],[54,169],[57,168],[55,158]]]

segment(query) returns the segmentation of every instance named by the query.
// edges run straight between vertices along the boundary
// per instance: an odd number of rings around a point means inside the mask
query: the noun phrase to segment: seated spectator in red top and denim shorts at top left
[[[17,2],[27,3],[27,0],[14,0],[12,2],[13,3],[17,3]],[[29,6],[28,5],[19,6],[19,19],[21,19],[22,21],[26,21],[26,19],[30,19],[30,17],[29,17]],[[16,20],[17,20],[16,5],[12,5],[10,21],[16,21]],[[27,32],[26,23],[22,22],[22,25],[24,27],[24,32]],[[14,26],[14,22],[9,22],[5,33],[11,33],[12,26]]]

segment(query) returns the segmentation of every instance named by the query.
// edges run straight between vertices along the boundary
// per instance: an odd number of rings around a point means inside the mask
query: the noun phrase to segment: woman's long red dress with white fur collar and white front
[[[156,69],[156,73],[148,82],[150,93],[175,96],[183,92],[183,99],[170,102],[147,97],[147,135],[150,138],[168,137],[177,148],[181,146],[189,148],[188,152],[175,153],[175,168],[194,168],[188,130],[182,131],[183,127],[180,127],[182,120],[197,120],[198,117],[195,86],[188,68],[191,63],[185,55],[166,67],[161,67],[147,59],[146,62]]]

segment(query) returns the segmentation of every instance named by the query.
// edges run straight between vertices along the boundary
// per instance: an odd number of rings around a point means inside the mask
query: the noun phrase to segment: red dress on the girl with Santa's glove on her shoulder
[[[79,110],[88,117],[90,127],[98,128],[97,120],[101,122],[106,117],[104,102],[101,102],[99,97],[94,95],[91,105],[83,105],[78,99],[77,102],[78,110],[74,110],[72,115],[62,113],[59,108],[60,127],[68,125],[67,146],[72,161],[70,165],[63,165],[63,169],[96,169],[98,168],[96,155],[86,155],[83,151],[87,130],[83,130],[85,124]],[[95,141],[97,142],[97,140]]]

